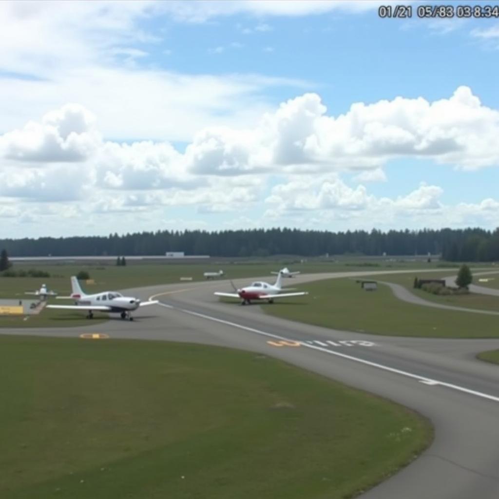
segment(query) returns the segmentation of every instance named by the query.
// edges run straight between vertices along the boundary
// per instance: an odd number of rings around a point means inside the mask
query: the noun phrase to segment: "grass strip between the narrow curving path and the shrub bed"
[[[480,293],[468,293],[468,294],[457,294],[457,295],[436,295],[429,293],[423,289],[414,289],[414,277],[420,279],[441,279],[452,275],[452,271],[449,270],[445,272],[415,272],[408,274],[385,274],[373,276],[373,279],[387,282],[394,282],[396,284],[401,284],[409,291],[414,293],[416,296],[428,301],[433,301],[434,303],[440,303],[442,305],[451,305],[464,308],[477,308],[480,310],[492,310],[494,312],[499,312],[499,296],[491,296],[487,294]],[[482,284],[478,282],[478,278],[474,278],[473,282],[476,284]]]

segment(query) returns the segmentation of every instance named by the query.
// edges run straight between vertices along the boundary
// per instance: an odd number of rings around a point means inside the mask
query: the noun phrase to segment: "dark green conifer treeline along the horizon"
[[[499,228],[424,229],[421,231],[302,231],[253,229],[240,231],[157,231],[109,236],[4,239],[9,256],[154,255],[184,251],[187,255],[268,256],[325,253],[365,255],[442,254],[451,261],[499,260]]]

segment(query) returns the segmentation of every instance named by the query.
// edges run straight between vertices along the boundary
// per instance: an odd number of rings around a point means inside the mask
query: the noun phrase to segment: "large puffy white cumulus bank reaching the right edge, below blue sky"
[[[337,117],[326,115],[319,95],[307,93],[266,113],[253,129],[204,130],[189,147],[188,163],[197,173],[279,166],[296,173],[378,169],[389,159],[412,156],[474,170],[499,164],[498,134],[499,112],[465,86],[434,102],[397,97],[355,103]]]

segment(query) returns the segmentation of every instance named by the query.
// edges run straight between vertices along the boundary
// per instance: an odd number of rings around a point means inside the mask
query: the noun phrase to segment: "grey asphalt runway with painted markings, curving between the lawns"
[[[312,274],[286,283],[382,273],[388,272]],[[235,281],[238,286],[246,283],[248,279]],[[98,341],[190,341],[270,355],[394,400],[431,419],[432,446],[362,498],[499,497],[499,367],[474,357],[481,350],[499,348],[499,339],[404,338],[330,330],[266,315],[259,306],[221,303],[213,295],[214,290],[229,289],[228,281],[208,281],[127,290],[142,299],[158,295],[161,304],[137,311],[134,322],[113,319],[80,328],[1,333],[73,337],[104,333],[110,339]]]

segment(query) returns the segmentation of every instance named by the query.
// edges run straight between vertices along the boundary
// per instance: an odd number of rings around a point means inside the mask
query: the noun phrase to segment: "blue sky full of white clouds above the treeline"
[[[499,16],[450,3],[0,2],[0,239],[499,227]]]

